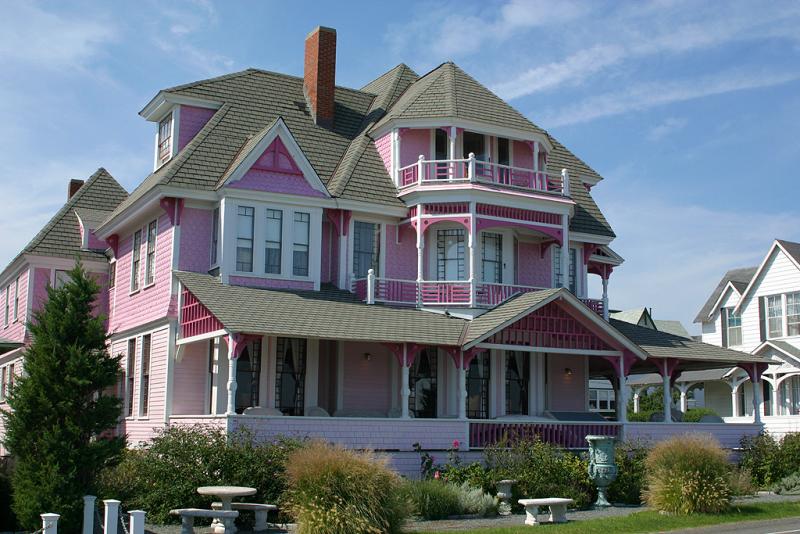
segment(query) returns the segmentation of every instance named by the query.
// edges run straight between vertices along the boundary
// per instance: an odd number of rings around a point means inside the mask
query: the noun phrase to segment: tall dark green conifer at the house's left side
[[[83,495],[117,461],[124,437],[111,437],[121,402],[109,391],[120,377],[120,358],[107,351],[104,318],[93,314],[99,286],[80,263],[59,289],[48,287],[44,307],[28,324],[31,344],[24,373],[3,411],[5,445],[15,469],[13,510],[30,530],[39,514],[61,514],[59,531],[79,532]]]

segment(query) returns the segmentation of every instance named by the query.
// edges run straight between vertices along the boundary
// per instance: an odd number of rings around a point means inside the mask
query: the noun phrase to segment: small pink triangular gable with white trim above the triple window
[[[282,120],[242,148],[238,165],[226,174],[223,185],[287,195],[328,196]]]

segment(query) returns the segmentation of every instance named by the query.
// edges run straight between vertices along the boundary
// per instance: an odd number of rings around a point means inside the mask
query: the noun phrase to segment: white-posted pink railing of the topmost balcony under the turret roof
[[[426,160],[420,155],[416,163],[398,169],[400,193],[417,187],[460,186],[483,184],[527,192],[569,196],[569,176],[566,169],[553,174],[535,169],[511,167],[490,161],[480,161],[475,154],[467,159]]]

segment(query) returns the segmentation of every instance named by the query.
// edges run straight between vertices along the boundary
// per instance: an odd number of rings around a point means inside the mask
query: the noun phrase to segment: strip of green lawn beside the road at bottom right
[[[711,515],[670,516],[658,512],[637,512],[624,517],[604,517],[602,519],[589,519],[575,521],[562,525],[543,524],[536,527],[544,528],[546,532],[580,533],[580,534],[609,534],[612,532],[663,532],[691,527],[718,525],[720,523],[736,523],[739,521],[759,521],[764,519],[779,519],[783,517],[800,516],[800,502],[741,504],[734,506],[730,512]],[[569,514],[567,514],[569,517]],[[522,516],[520,516],[520,523]],[[537,530],[538,531],[538,530]],[[463,534],[530,534],[531,527],[520,525],[507,528],[482,528],[461,531]]]

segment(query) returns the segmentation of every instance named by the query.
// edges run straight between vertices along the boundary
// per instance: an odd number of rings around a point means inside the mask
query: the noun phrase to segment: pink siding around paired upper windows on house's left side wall
[[[146,235],[144,229],[143,236]],[[144,287],[146,239],[142,238],[139,291],[130,293],[133,231],[120,240],[117,258],[117,296],[111,317],[113,332],[123,332],[174,313],[172,298],[172,239],[173,228],[166,214],[158,219],[156,237],[156,277],[152,286]]]

